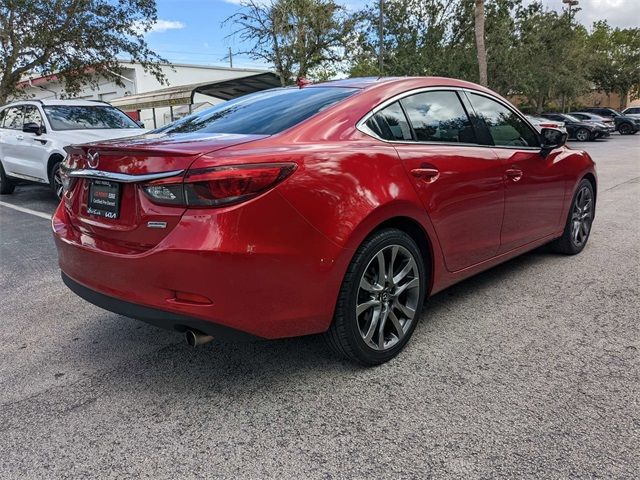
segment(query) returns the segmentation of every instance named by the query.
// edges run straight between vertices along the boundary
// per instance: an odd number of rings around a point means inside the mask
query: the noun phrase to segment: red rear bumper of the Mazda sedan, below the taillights
[[[235,208],[187,210],[142,253],[107,251],[79,234],[64,202],[52,226],[63,279],[78,295],[204,333],[222,327],[272,339],[325,331],[350,259],[276,192]]]

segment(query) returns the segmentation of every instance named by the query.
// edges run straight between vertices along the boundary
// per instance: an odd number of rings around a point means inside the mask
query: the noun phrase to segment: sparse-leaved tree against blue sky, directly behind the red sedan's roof
[[[342,58],[351,28],[344,9],[333,0],[243,0],[240,11],[223,23],[251,48],[240,52],[273,65],[282,85]]]

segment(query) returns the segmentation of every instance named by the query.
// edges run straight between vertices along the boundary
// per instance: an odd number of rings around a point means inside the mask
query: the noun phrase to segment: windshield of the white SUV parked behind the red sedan
[[[54,130],[140,128],[124,112],[109,106],[49,105],[44,113]]]

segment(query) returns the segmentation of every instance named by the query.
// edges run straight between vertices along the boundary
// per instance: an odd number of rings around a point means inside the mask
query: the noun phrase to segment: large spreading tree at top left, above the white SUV
[[[0,104],[34,72],[55,73],[70,94],[98,76],[121,84],[119,55],[163,82],[144,39],[156,19],[155,0],[0,0]]]

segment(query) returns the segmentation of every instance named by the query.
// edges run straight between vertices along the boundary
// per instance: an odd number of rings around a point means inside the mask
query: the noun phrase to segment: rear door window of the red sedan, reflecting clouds
[[[424,92],[401,100],[422,142],[475,143],[471,121],[455,92]]]

